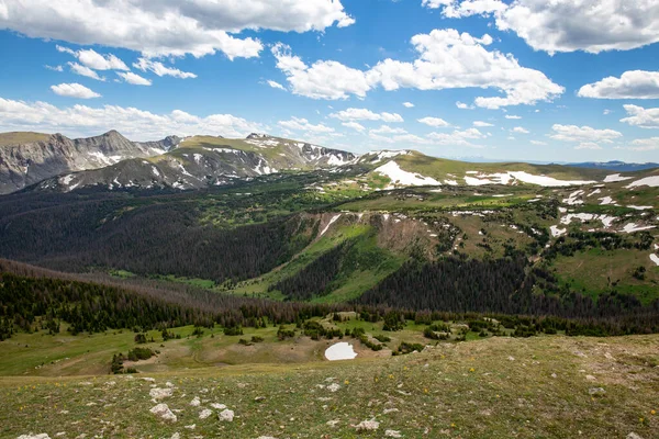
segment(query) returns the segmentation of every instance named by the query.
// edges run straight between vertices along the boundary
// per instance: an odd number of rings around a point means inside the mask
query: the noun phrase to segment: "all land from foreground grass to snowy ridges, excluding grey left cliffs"
[[[0,196],[2,437],[652,437],[656,169],[256,134],[94,166]]]

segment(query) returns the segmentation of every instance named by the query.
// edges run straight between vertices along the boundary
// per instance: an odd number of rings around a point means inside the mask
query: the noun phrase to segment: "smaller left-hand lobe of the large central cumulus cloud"
[[[330,100],[348,99],[350,94],[364,98],[371,88],[364,71],[340,63],[316,61],[308,66],[283,44],[276,44],[272,55],[294,94]]]

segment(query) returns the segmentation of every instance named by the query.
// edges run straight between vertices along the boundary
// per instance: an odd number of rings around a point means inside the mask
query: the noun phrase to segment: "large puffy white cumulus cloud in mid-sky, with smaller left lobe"
[[[414,61],[388,58],[368,70],[333,60],[309,66],[283,44],[275,45],[272,54],[293,93],[313,99],[347,99],[350,94],[364,98],[376,87],[388,91],[480,88],[503,95],[479,97],[474,104],[499,109],[549,101],[565,91],[541,71],[520,66],[512,55],[488,50],[492,43],[489,35],[478,38],[451,29],[435,30],[415,35],[411,42],[417,53]]]

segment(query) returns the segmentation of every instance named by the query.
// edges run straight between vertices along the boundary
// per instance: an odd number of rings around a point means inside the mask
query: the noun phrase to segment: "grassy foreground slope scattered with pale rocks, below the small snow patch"
[[[5,376],[0,437],[656,438],[658,347],[656,335],[493,338],[295,367]],[[158,403],[176,421],[149,412],[154,387],[172,389]],[[233,421],[211,404],[226,405]],[[200,418],[204,409],[212,414]],[[356,428],[371,419],[377,430]]]

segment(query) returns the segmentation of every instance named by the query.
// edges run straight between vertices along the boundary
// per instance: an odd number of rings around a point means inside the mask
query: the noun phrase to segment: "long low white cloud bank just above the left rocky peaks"
[[[40,131],[68,136],[90,136],[118,130],[134,140],[153,140],[170,134],[199,133],[242,137],[264,132],[260,124],[231,114],[205,117],[180,110],[155,114],[135,108],[74,105],[58,108],[47,102],[24,102],[0,98],[0,131]]]

